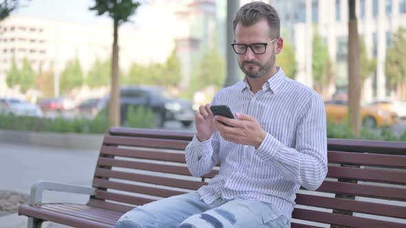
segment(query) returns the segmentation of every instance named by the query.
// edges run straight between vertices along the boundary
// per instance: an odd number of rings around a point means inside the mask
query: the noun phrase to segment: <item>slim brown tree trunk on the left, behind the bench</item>
[[[120,126],[120,89],[118,78],[118,21],[114,20],[113,56],[111,60],[111,93],[109,125]]]

